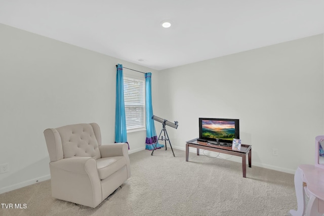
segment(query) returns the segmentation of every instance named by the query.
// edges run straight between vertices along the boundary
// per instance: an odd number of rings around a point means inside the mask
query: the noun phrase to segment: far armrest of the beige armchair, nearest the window
[[[113,143],[99,146],[101,157],[126,156],[128,157],[127,143]]]

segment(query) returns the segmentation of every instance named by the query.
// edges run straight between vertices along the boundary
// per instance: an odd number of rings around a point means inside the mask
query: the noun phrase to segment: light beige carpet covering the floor
[[[0,194],[1,203],[26,204],[0,215],[249,215],[284,216],[297,209],[294,175],[253,166],[242,178],[238,162],[168,148],[130,155],[132,176],[96,208],[51,197],[50,181]]]

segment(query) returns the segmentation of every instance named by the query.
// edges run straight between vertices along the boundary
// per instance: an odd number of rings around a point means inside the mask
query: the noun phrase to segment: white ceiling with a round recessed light
[[[324,1],[0,0],[0,23],[162,70],[324,33]]]

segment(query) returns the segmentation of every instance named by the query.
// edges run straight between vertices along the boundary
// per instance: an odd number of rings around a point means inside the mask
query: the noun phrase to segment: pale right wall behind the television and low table
[[[198,137],[198,117],[239,118],[242,143],[252,145],[252,164],[294,173],[298,164],[314,163],[314,139],[324,132],[322,34],[159,76],[167,88],[159,86],[163,95],[155,114],[179,121],[177,130],[168,129],[174,147],[184,149]]]

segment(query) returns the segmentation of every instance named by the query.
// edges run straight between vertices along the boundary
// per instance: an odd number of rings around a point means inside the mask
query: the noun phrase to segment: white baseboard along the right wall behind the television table
[[[173,148],[179,149],[179,150],[182,150],[182,151],[186,151],[185,147],[173,146]],[[197,150],[195,148],[189,148],[189,152],[197,153]],[[214,153],[214,152],[212,152],[212,153]],[[232,156],[232,155],[228,155],[228,154],[222,154],[222,153],[220,153],[220,154],[222,155],[222,158],[228,158],[228,156]],[[242,162],[242,159],[239,156],[233,156],[231,158],[228,158],[228,160],[239,162],[239,163]],[[287,172],[289,174],[295,174],[295,171],[296,171],[296,170],[293,170],[293,169],[287,169],[287,168],[282,168],[282,167],[278,167],[278,166],[272,166],[272,165],[253,162],[253,161],[252,161],[252,166],[258,166],[258,167],[262,167],[262,168],[266,168],[266,169],[273,169],[273,170],[276,170],[276,171]]]

